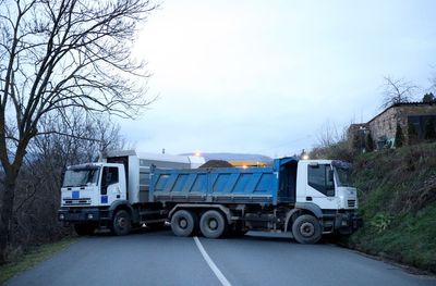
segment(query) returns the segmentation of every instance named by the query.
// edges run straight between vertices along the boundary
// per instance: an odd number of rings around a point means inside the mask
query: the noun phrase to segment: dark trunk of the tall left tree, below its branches
[[[4,188],[0,210],[0,262],[7,259],[7,249],[12,243],[13,202],[15,197],[17,170],[5,172]]]

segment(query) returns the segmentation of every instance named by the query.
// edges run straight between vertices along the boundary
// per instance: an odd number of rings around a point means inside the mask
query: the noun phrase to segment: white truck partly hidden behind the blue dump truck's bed
[[[61,188],[58,219],[73,224],[78,235],[106,226],[116,235],[125,235],[132,226],[160,227],[168,212],[159,202],[149,201],[150,166],[194,169],[203,157],[111,151],[99,162],[66,169]]]

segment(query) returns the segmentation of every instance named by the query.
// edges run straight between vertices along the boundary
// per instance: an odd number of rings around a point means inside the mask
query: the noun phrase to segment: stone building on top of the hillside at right
[[[367,123],[352,124],[349,140],[354,148],[364,148],[364,138],[371,133],[377,149],[395,144],[397,124],[401,126],[405,140],[413,129],[417,140],[424,139],[425,125],[433,121],[436,126],[436,102],[404,102],[388,107]]]

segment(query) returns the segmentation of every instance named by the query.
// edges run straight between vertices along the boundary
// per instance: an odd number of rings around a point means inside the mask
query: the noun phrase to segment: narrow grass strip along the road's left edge
[[[23,254],[17,259],[16,262],[9,262],[0,265],[0,285],[11,277],[22,273],[37,263],[48,259],[56,252],[64,249],[65,247],[73,244],[75,239],[69,238],[63,239],[53,244],[47,244],[38,247],[34,247],[27,253]]]

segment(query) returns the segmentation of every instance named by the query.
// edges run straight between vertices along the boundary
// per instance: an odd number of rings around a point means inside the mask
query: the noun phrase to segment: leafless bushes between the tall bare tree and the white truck
[[[35,246],[74,235],[72,227],[63,227],[57,219],[65,166],[96,161],[99,151],[129,148],[120,135],[120,127],[107,116],[74,112],[70,114],[70,124],[53,117],[46,119],[45,126],[56,126],[61,133],[70,132],[75,136],[47,134],[29,144],[16,185],[11,244],[0,249],[3,258],[0,265],[25,258]],[[2,177],[0,170],[0,181]],[[1,187],[0,184],[0,191]]]

